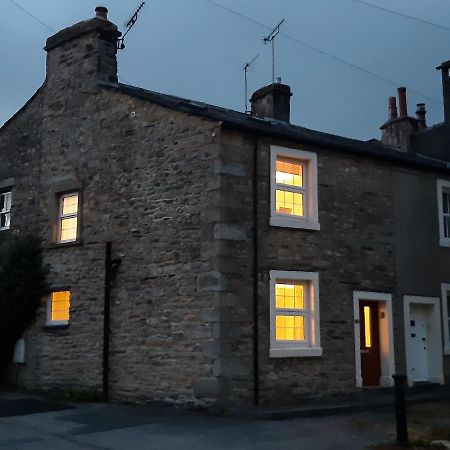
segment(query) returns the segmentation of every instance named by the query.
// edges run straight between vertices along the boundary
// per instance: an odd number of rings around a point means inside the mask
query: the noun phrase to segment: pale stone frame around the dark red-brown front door
[[[378,305],[378,328],[380,330],[380,362],[381,377],[380,386],[394,385],[392,375],[395,373],[394,356],[394,328],[392,321],[392,294],[379,292],[353,291],[353,318],[355,324],[355,371],[356,387],[363,387],[361,376],[361,342],[359,323],[359,302],[368,300],[379,302]],[[383,317],[381,317],[383,315]],[[385,320],[387,319],[387,320]]]

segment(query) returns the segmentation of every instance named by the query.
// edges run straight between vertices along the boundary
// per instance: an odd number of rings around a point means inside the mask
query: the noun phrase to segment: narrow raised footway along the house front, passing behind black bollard
[[[353,395],[308,399],[299,405],[259,406],[253,408],[225,409],[224,415],[260,420],[285,420],[300,417],[320,417],[365,411],[379,411],[394,407],[394,388],[362,390]],[[450,400],[450,387],[414,386],[406,389],[407,404]]]

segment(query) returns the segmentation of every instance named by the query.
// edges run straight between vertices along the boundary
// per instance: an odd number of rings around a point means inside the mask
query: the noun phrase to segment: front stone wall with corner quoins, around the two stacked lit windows
[[[224,215],[242,232],[226,241],[223,273],[231,312],[228,393],[232,401],[252,396],[252,153],[253,141],[227,133],[233,162],[224,185]],[[318,157],[320,231],[269,226],[270,144],[314,151]],[[390,293],[395,286],[392,169],[369,159],[258,141],[258,308],[262,403],[355,391],[353,291]],[[231,166],[230,166],[231,167]],[[247,236],[242,240],[241,236]],[[319,273],[323,357],[269,358],[269,271]],[[243,396],[243,392],[247,395]]]

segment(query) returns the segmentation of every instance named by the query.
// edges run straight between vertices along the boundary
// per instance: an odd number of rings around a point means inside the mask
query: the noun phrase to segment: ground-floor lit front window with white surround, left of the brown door
[[[319,277],[270,271],[270,356],[321,356]]]

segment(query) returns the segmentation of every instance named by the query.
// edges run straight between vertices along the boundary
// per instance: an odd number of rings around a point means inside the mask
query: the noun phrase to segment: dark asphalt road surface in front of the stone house
[[[8,450],[353,450],[392,442],[392,406],[358,413],[259,420],[175,408],[60,404],[0,392],[0,449]]]

